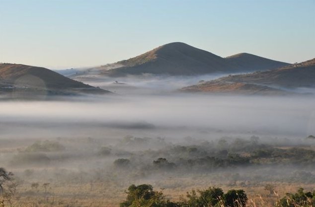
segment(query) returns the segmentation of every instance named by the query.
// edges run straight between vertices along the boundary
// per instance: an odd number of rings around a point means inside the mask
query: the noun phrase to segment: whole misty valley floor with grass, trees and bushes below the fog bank
[[[234,207],[235,195],[248,207],[314,206],[313,138],[16,143],[2,140],[1,165],[14,173],[0,181],[5,207]]]

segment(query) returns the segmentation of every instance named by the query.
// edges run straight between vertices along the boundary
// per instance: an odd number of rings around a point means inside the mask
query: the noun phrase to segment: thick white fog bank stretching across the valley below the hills
[[[194,131],[205,131],[208,134],[204,136],[209,137],[212,132],[223,131],[305,138],[315,135],[314,103],[314,97],[191,94],[7,101],[0,107],[1,134],[9,137],[26,135],[26,131],[35,135],[50,132],[47,136],[58,137],[86,131],[93,137],[91,133],[106,136],[104,129],[121,128],[125,130],[121,136],[135,132],[193,136]]]

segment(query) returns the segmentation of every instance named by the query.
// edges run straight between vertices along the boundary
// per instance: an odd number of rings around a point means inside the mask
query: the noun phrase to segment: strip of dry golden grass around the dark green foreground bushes
[[[137,181],[144,183],[145,181]],[[85,184],[62,184],[52,183],[45,194],[43,183],[39,183],[37,189],[31,188],[31,183],[24,182],[18,186],[18,193],[12,200],[12,207],[118,207],[126,194],[124,193],[129,182],[125,183],[90,183]],[[270,196],[269,192],[264,190],[267,183],[255,183],[252,185],[230,186],[228,183],[219,183],[211,180],[166,178],[165,180],[150,183],[156,190],[163,189],[163,194],[171,201],[179,201],[185,197],[186,192],[191,189],[206,189],[209,186],[221,187],[225,192],[230,189],[243,189],[248,196],[248,207],[274,207],[279,198],[285,196],[287,192],[296,192],[300,187],[311,191],[315,189],[315,184],[298,183],[273,183],[275,195]],[[165,187],[166,186],[166,187]],[[5,202],[5,206],[10,206]],[[222,206],[223,207],[223,206]]]

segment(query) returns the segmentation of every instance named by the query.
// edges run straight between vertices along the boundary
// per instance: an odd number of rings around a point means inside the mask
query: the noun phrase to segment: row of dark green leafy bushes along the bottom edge
[[[224,193],[221,188],[210,187],[206,190],[187,192],[186,198],[179,202],[166,199],[161,191],[154,191],[151,185],[131,185],[125,192],[127,198],[120,207],[246,207],[248,198],[243,190],[229,190]],[[259,207],[254,201],[252,206]],[[287,193],[274,204],[275,207],[315,207],[315,191]]]

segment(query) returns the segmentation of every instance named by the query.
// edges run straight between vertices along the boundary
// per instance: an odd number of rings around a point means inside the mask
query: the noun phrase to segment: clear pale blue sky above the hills
[[[0,0],[0,62],[69,69],[170,42],[221,57],[315,57],[315,0]]]

